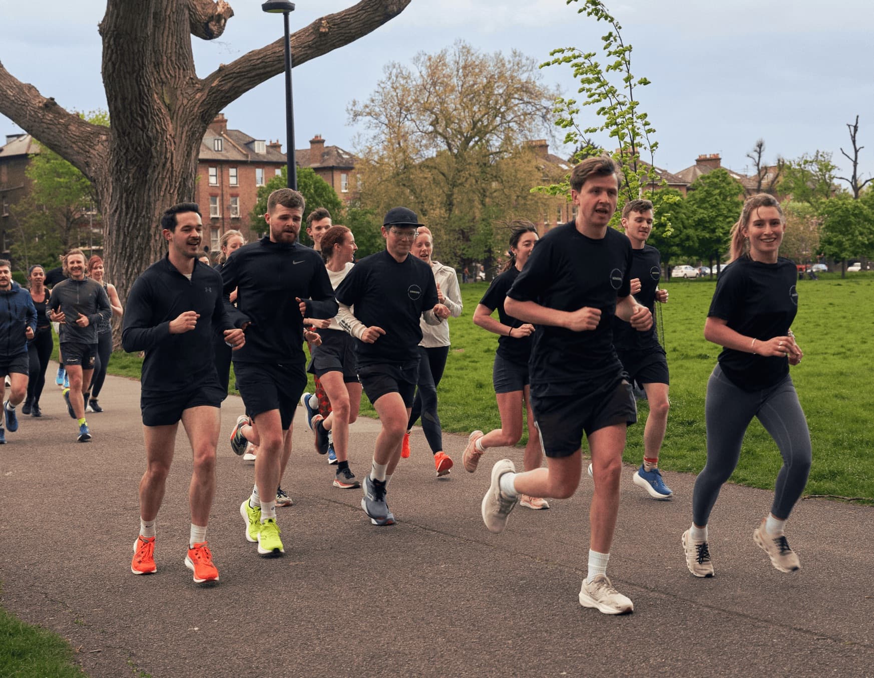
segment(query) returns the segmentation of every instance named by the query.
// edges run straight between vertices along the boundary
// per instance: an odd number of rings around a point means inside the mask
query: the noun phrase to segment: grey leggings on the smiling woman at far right
[[[783,465],[777,474],[771,513],[785,521],[807,485],[811,458],[808,422],[792,379],[787,375],[776,386],[751,393],[732,384],[717,365],[707,382],[704,410],[707,464],[698,474],[692,494],[695,524],[707,524],[719,489],[738,465],[740,444],[753,416],[780,448]]]

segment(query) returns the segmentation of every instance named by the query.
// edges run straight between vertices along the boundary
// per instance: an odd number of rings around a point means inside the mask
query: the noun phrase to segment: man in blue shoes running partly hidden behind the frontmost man
[[[653,204],[649,200],[631,200],[622,208],[622,227],[631,241],[631,293],[635,299],[655,312],[655,302],[668,301],[668,290],[659,290],[662,261],[656,248],[647,244],[653,229]],[[637,382],[647,394],[649,415],[643,430],[643,461],[635,471],[634,482],[656,500],[670,499],[674,493],[665,485],[658,469],[668,425],[668,359],[658,343],[655,327],[638,332],[621,318],[613,321],[613,343],[628,379]]]

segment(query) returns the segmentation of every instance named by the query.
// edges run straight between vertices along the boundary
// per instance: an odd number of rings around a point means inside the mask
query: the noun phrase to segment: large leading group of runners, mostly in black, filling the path
[[[489,448],[518,442],[527,418],[531,435],[523,472],[510,459],[497,461],[482,499],[482,520],[497,533],[517,503],[545,509],[551,499],[572,496],[582,477],[586,437],[593,497],[579,603],[608,614],[634,609],[611,584],[607,562],[626,430],[637,419],[635,382],[646,392],[649,416],[633,481],[654,499],[673,496],[658,468],[669,371],[653,308],[667,303],[668,293],[658,289],[658,252],[646,244],[653,206],[642,199],[628,203],[623,235],[609,227],[617,196],[613,161],[589,158],[571,175],[574,220],[539,241],[531,223],[510,224],[510,261],[474,314],[476,325],[500,335],[493,378],[501,429],[475,430],[462,453],[465,470],[475,472]],[[265,215],[269,233],[250,244],[230,235],[222,242],[219,270],[198,262],[203,227],[196,204],[173,206],[163,215],[168,255],[130,290],[122,333],[125,350],[145,352],[147,469],[140,484],[135,574],[157,569],[156,515],[182,422],[194,454],[185,564],[196,582],[218,581],[206,527],[228,356],[246,409],[233,427],[232,449],[254,457],[252,492],[239,513],[246,540],[262,556],[284,553],[276,507],[291,503],[281,479],[299,400],[316,451],[336,463],[333,485],[361,487],[361,506],[373,525],[395,522],[389,486],[409,454],[417,417],[437,476],[453,466],[442,449],[436,384],[447,360],[447,318],[462,311],[454,271],[431,259],[430,231],[406,207],[385,214],[385,250],[354,264],[354,235],[333,226],[323,209],[308,219],[316,248],[302,245],[304,208],[300,193],[273,192]],[[794,266],[778,255],[783,230],[775,199],[761,194],[746,201],[732,232],[732,263],[719,277],[708,313],[705,337],[724,350],[707,388],[707,463],[696,481],[691,527],[681,540],[697,577],[713,574],[709,514],[754,416],[773,435],[784,464],[771,510],[753,539],[778,570],[800,567],[783,528],[807,480],[810,443],[788,376],[802,353],[790,330],[797,305]],[[313,394],[303,393],[308,371],[316,381]],[[358,479],[350,469],[349,427],[363,394],[376,409],[380,430],[371,467]]]

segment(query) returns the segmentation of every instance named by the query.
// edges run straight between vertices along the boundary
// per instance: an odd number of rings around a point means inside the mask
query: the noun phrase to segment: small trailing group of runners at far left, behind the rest
[[[102,412],[98,396],[112,353],[114,314],[123,309],[113,285],[103,279],[103,260],[73,248],[61,256],[61,266],[46,273],[35,264],[27,271],[28,289],[12,280],[11,265],[0,260],[0,444],[6,431],[18,430],[17,405],[23,415],[42,416],[39,399],[52,355],[52,325],[59,334],[62,388],[67,413],[76,420],[77,440],[91,440],[86,412]],[[5,388],[10,389],[5,397]]]

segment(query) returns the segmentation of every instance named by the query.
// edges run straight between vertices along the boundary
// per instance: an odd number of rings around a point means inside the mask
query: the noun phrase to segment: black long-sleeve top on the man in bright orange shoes
[[[190,332],[171,334],[170,321],[185,311],[200,315],[197,325]],[[233,329],[217,271],[194,262],[189,280],[167,256],[149,266],[130,288],[121,331],[125,351],[146,352],[143,392],[186,390],[200,381],[214,379],[215,327]]]

